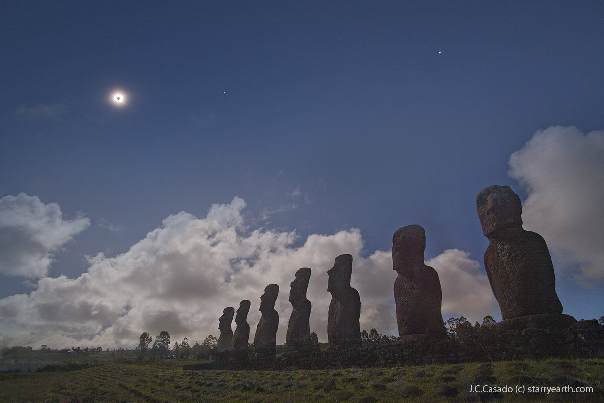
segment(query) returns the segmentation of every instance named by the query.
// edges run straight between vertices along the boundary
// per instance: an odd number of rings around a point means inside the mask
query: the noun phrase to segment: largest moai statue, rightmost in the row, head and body
[[[504,319],[562,314],[550,252],[541,235],[522,228],[522,204],[509,186],[478,193],[478,218],[489,247],[484,268]]]

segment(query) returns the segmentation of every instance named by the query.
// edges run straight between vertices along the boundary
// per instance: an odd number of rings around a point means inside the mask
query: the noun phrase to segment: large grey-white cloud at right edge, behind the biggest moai
[[[544,237],[557,271],[583,285],[603,283],[604,132],[538,131],[512,154],[509,174],[528,193],[524,227]]]

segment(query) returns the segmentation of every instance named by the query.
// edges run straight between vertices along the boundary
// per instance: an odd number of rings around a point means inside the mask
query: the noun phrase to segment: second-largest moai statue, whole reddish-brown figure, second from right
[[[426,232],[420,225],[399,228],[392,237],[392,266],[399,274],[394,280],[394,302],[401,337],[446,334],[439,274],[423,262],[425,249]]]

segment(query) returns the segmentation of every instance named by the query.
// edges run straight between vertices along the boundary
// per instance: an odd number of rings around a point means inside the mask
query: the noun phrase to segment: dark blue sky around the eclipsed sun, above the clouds
[[[482,265],[477,193],[530,196],[510,155],[550,126],[604,129],[603,19],[600,1],[5,2],[0,197],[89,218],[50,277],[234,196],[248,231],[294,247],[359,228],[369,256],[420,224],[426,260]],[[601,288],[569,270],[582,316]],[[0,297],[35,289],[2,272]]]

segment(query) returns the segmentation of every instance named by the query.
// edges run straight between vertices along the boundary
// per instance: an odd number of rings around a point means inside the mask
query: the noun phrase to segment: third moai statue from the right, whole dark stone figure
[[[327,317],[327,340],[332,347],[361,346],[361,297],[350,286],[352,256],[336,257],[333,267],[327,270],[327,291],[332,294]]]

